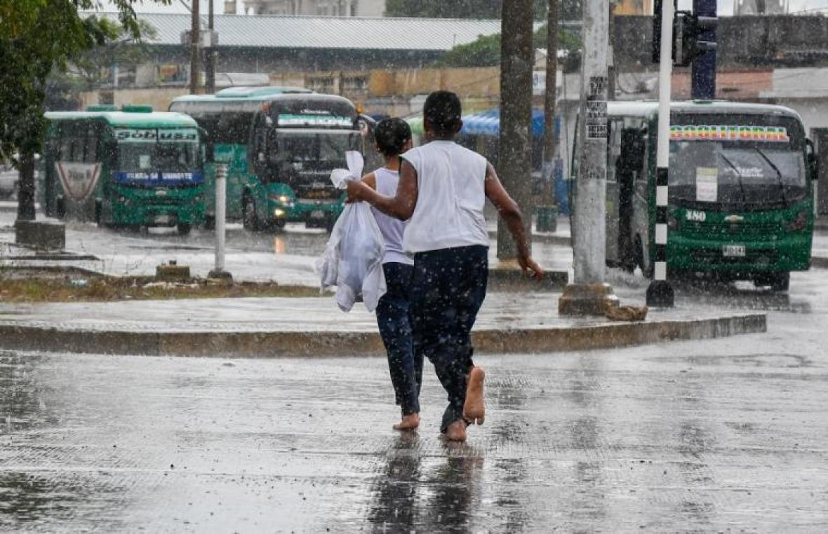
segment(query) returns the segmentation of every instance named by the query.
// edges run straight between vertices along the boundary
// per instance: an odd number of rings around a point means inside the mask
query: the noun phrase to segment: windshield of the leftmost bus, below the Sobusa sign
[[[127,173],[197,172],[199,145],[190,142],[118,143],[118,170]]]

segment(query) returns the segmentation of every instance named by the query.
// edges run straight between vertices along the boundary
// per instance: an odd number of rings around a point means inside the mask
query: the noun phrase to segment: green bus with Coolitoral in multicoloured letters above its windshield
[[[607,115],[607,264],[638,266],[649,277],[658,104],[610,102]],[[791,271],[811,265],[815,179],[813,145],[791,109],[672,103],[668,275],[743,279],[786,291]]]

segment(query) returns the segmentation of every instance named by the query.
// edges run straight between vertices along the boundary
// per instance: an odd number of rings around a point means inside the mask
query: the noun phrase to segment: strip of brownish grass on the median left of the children
[[[316,288],[275,282],[219,282],[205,279],[162,282],[150,276],[110,278],[76,272],[26,273],[22,269],[0,269],[0,303],[318,296],[320,293]]]

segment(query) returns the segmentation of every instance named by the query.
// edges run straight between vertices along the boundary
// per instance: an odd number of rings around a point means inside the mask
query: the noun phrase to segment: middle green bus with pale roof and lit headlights
[[[330,171],[360,150],[364,128],[347,98],[302,88],[227,88],[173,100],[170,111],[206,131],[207,222],[214,222],[214,164],[228,165],[227,218],[248,230],[286,222],[333,226],[344,194]]]

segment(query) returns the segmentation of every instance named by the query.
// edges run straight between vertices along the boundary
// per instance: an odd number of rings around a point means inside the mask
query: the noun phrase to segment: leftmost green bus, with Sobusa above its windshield
[[[132,229],[205,220],[200,132],[181,113],[148,106],[47,112],[39,195],[49,217]]]

